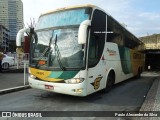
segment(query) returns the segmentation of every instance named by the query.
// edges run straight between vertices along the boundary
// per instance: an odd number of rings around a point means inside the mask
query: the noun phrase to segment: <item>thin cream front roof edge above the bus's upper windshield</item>
[[[97,6],[91,5],[91,4],[86,4],[86,5],[77,5],[77,6],[63,7],[63,8],[58,8],[56,10],[48,11],[46,13],[42,13],[40,16],[51,14],[51,13],[54,13],[54,12],[57,12],[57,11],[69,10],[69,9],[74,9],[74,8],[83,8],[83,7],[91,7],[91,8],[93,8],[93,7],[97,7]]]

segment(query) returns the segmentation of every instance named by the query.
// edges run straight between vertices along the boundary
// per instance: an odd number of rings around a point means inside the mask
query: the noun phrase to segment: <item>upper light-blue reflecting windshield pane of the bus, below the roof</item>
[[[80,25],[89,19],[90,13],[90,8],[79,8],[45,14],[39,18],[35,29]]]

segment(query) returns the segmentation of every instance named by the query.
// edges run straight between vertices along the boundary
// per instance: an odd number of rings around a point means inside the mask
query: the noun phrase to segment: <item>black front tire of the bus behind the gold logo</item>
[[[112,89],[114,82],[115,82],[115,74],[112,71],[109,73],[107,77],[105,92],[109,92]]]

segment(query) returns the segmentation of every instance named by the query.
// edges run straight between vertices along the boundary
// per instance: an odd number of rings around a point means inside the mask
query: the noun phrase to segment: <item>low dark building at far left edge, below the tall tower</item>
[[[10,32],[3,25],[0,25],[0,46],[4,48],[4,51],[9,49]]]

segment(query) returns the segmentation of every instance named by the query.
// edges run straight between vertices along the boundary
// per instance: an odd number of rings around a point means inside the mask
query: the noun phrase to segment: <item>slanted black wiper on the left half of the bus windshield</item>
[[[53,33],[54,33],[54,31],[52,32],[52,36],[51,36],[51,38],[49,40],[48,47],[42,52],[42,54],[40,55],[40,58],[37,60],[37,64],[35,65],[36,68],[38,68],[39,61],[43,58],[43,56],[46,54],[46,52],[50,51],[50,49],[51,49],[51,44],[52,44],[52,39],[53,39]]]

